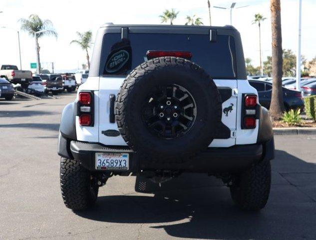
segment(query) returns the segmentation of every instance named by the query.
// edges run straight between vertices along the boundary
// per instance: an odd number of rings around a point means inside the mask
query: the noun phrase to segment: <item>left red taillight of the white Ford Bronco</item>
[[[79,92],[77,115],[81,126],[93,126],[93,91]]]

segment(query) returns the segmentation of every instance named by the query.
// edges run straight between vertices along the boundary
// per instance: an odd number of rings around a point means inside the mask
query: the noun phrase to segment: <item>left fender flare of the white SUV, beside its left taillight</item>
[[[70,141],[77,140],[76,134],[76,104],[67,104],[61,113],[58,135],[58,155],[73,159],[70,151]]]

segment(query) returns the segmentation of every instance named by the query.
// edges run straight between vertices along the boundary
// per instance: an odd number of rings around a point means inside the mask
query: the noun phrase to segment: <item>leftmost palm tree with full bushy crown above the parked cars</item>
[[[36,60],[37,60],[37,69],[36,71],[40,73],[40,58],[39,58],[39,44],[38,38],[44,35],[52,35],[57,37],[57,32],[53,29],[53,24],[50,20],[42,20],[36,14],[31,14],[28,18],[20,18],[18,20],[21,23],[21,30],[27,31],[29,35],[35,38],[35,49],[36,49]],[[40,32],[39,32],[40,31]]]

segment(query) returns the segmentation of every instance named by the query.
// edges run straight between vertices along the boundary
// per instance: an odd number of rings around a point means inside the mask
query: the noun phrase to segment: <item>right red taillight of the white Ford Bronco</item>
[[[258,117],[257,95],[243,94],[242,104],[242,129],[256,128],[256,120]]]

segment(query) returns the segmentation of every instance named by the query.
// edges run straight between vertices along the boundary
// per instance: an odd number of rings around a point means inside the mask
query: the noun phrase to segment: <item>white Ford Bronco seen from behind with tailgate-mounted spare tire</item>
[[[58,141],[64,203],[92,205],[113,175],[135,190],[183,172],[220,177],[242,209],[267,203],[274,138],[232,26],[99,28],[89,77],[65,106]]]

